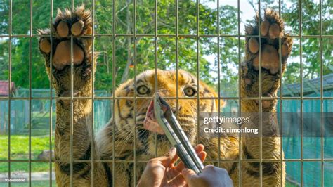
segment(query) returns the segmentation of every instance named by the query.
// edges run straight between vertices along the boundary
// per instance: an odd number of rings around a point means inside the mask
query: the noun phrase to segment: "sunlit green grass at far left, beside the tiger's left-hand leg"
[[[52,139],[52,146],[54,138]],[[31,159],[38,160],[38,155],[43,150],[49,150],[48,136],[31,137]],[[8,136],[0,136],[0,160],[8,160]],[[11,160],[29,160],[29,136],[11,136]],[[49,170],[46,162],[32,162],[32,172],[44,172]],[[28,162],[11,162],[11,171],[28,172]],[[0,172],[8,172],[8,162],[0,162]]]

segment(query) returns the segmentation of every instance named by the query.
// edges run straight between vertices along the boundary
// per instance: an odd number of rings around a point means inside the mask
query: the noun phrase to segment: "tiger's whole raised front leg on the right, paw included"
[[[280,149],[280,138],[278,120],[276,116],[276,103],[278,102],[277,92],[280,87],[280,78],[285,72],[287,58],[291,53],[292,39],[284,32],[284,25],[279,18],[278,13],[267,9],[261,25],[258,22],[258,16],[254,25],[248,25],[247,35],[258,35],[261,32],[261,43],[258,37],[247,37],[246,56],[242,64],[241,79],[241,110],[244,117],[250,117],[250,122],[243,124],[242,128],[259,129],[262,134],[261,139],[253,134],[244,134],[242,137],[242,157],[245,159],[273,159],[277,162],[262,162],[263,184],[282,186],[284,185],[284,167],[280,165],[279,160],[282,155]],[[280,41],[281,43],[280,43]],[[261,63],[259,63],[259,48],[261,47]],[[280,64],[280,59],[281,63]],[[282,68],[281,68],[282,67]],[[280,69],[281,68],[281,69]],[[259,70],[261,70],[261,81],[259,80]],[[251,99],[261,96],[272,98],[261,101],[261,110],[259,110],[259,100]],[[259,115],[262,113],[262,118]],[[260,125],[262,124],[262,126]],[[262,127],[262,128],[259,128]],[[262,131],[260,132],[260,130]],[[249,179],[259,180],[260,163],[244,162],[243,184]],[[281,182],[282,180],[282,182]]]

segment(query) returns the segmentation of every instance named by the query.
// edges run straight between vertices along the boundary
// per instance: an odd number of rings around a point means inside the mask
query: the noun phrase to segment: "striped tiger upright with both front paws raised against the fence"
[[[218,166],[228,171],[235,186],[259,186],[259,183],[285,186],[276,104],[292,39],[285,33],[278,13],[266,9],[263,18],[257,14],[252,24],[246,26],[245,56],[240,68],[240,110],[259,112],[261,106],[268,114],[262,127],[272,136],[263,137],[262,143],[259,137],[246,135],[241,138],[200,136],[199,114],[216,112],[226,102],[218,101],[214,89],[185,70],[146,70],[136,79],[119,85],[112,96],[113,117],[98,134],[93,134],[91,98],[93,75],[98,72],[97,53],[93,53],[91,47],[91,16],[91,11],[84,6],[74,11],[58,10],[51,29],[38,30],[39,51],[44,56],[46,72],[56,95],[54,150],[58,186],[71,183],[73,186],[133,186],[137,183],[145,162],[171,147],[164,134],[150,131],[144,124],[152,94],[156,92],[166,98],[190,143],[205,146],[205,163],[216,165],[214,160],[218,160]],[[257,36],[259,30],[260,39],[251,37]],[[251,99],[259,97],[259,84],[262,96],[270,98],[261,103]],[[242,128],[254,128],[258,124],[259,118],[252,117]],[[260,163],[259,158],[272,161]]]

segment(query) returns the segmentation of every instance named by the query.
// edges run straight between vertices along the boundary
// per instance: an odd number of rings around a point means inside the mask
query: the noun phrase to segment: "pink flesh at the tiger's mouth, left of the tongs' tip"
[[[154,101],[150,101],[147,113],[145,114],[145,120],[143,121],[143,127],[148,131],[157,132],[158,134],[164,134],[163,129],[157,123],[154,115]]]

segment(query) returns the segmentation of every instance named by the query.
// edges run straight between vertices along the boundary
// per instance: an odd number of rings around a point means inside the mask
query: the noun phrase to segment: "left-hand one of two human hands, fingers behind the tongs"
[[[202,162],[206,158],[207,153],[204,152],[204,146],[198,144],[195,146],[195,152]],[[149,160],[138,187],[141,186],[185,186],[185,179],[181,175],[181,171],[185,168],[183,162],[174,165],[178,159],[176,148],[171,148],[169,153],[162,157],[153,158]]]

